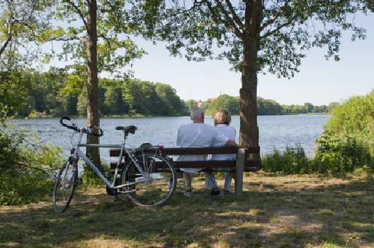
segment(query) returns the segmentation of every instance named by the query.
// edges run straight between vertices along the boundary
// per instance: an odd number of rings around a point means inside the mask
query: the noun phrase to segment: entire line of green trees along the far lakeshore
[[[86,88],[75,89],[66,94],[66,75],[47,72],[28,75],[33,81],[28,89],[26,101],[18,111],[8,112],[16,117],[60,117],[62,115],[86,116]],[[128,78],[125,81],[101,78],[99,80],[99,111],[102,117],[110,116],[185,116],[198,102],[205,114],[217,109],[227,109],[239,114],[239,96],[220,95],[216,100],[183,101],[176,90],[164,83],[151,83]],[[274,100],[257,98],[259,115],[330,113],[338,102],[327,105],[280,105]]]

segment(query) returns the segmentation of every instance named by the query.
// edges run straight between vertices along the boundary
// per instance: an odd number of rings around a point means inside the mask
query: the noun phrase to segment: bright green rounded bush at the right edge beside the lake
[[[317,140],[315,163],[330,172],[353,172],[374,161],[374,90],[336,107]]]

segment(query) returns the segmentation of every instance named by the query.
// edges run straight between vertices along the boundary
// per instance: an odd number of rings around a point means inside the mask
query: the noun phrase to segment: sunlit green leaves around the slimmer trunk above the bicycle
[[[134,59],[145,53],[131,40],[135,32],[127,26],[124,1],[97,1],[97,67],[100,73],[108,73],[111,77],[127,77],[125,66],[130,66]],[[51,42],[50,59],[54,57],[64,62],[65,71],[69,71],[65,93],[81,93],[86,77],[87,38],[89,35],[87,18],[89,6],[87,1],[59,1],[55,10],[48,13],[57,20],[53,33],[47,37]],[[65,27],[65,28],[62,28]],[[55,45],[62,51],[55,49]]]

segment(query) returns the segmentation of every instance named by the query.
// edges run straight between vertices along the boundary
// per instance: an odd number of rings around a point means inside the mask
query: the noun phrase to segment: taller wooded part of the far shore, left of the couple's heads
[[[8,112],[8,116],[21,117],[86,117],[86,89],[79,95],[64,95],[67,75],[60,70],[45,73],[33,73],[28,76],[35,82],[32,89],[24,89],[22,105]],[[31,79],[30,79],[31,81]],[[23,85],[21,82],[20,85]],[[120,115],[153,115],[181,116],[188,114],[188,108],[176,95],[176,90],[164,83],[151,83],[137,79],[100,78],[98,83],[100,95],[99,114],[101,116]]]

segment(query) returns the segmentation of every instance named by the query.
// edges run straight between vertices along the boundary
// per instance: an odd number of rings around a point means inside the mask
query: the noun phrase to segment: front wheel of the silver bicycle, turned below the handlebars
[[[64,213],[73,199],[78,182],[77,160],[71,158],[62,166],[53,190],[52,204],[56,213]]]

